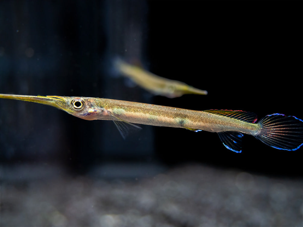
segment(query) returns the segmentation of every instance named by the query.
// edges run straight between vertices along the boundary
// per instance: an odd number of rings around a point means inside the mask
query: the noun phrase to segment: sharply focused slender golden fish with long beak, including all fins
[[[294,116],[274,113],[257,121],[257,116],[241,110],[187,110],[123,100],[0,94],[0,98],[36,102],[57,107],[85,120],[113,120],[122,137],[125,126],[137,124],[185,128],[218,133],[229,150],[241,152],[243,133],[279,150],[297,150],[303,144],[303,121]]]

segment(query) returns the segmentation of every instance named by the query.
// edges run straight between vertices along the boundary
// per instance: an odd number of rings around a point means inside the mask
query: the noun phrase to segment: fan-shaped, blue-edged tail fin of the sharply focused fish
[[[297,150],[303,144],[303,121],[294,116],[274,113],[263,117],[255,137],[279,150]]]

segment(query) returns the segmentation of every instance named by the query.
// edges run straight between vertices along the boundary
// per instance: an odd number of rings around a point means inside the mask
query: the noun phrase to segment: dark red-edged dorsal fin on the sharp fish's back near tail
[[[204,112],[231,117],[249,123],[255,123],[258,119],[257,114],[252,112],[242,111],[242,110],[204,110]]]

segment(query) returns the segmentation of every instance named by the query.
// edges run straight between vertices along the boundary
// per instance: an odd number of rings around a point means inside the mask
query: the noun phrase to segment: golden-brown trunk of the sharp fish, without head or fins
[[[209,132],[241,131],[251,135],[258,130],[256,124],[211,113],[211,111],[187,110],[114,99],[99,99],[99,101],[110,115],[130,123]],[[96,116],[96,119],[104,120],[102,117]]]

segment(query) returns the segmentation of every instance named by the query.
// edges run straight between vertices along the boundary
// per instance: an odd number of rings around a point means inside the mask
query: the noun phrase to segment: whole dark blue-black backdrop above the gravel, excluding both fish
[[[1,93],[106,97],[193,110],[302,113],[301,1],[3,1]],[[152,97],[112,76],[115,56],[208,90]],[[1,104],[1,162],[62,163],[72,173],[111,161],[187,161],[302,176],[302,148],[251,136],[233,153],[214,133],[143,126],[123,140],[112,122],[54,108]]]

